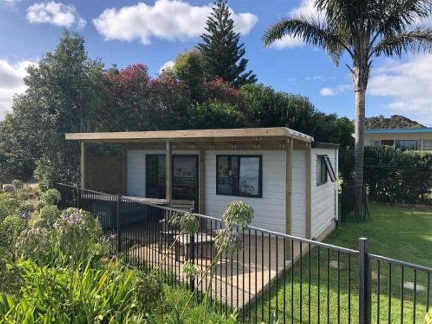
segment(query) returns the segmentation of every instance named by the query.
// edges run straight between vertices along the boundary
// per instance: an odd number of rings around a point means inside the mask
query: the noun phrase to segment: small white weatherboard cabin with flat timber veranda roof
[[[221,216],[250,204],[252,225],[322,239],[338,214],[338,145],[285,128],[67,133],[81,143],[81,186],[144,202],[192,201]],[[120,156],[89,156],[86,143],[121,144]],[[168,170],[168,171],[167,171]],[[137,198],[140,197],[140,198]]]

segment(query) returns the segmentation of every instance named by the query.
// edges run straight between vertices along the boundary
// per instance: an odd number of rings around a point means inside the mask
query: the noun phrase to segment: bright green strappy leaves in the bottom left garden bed
[[[112,322],[122,323],[130,313],[139,313],[133,294],[135,272],[116,262],[104,268],[72,272],[38,266],[30,260],[22,270],[20,299],[0,298],[0,317],[11,322]]]

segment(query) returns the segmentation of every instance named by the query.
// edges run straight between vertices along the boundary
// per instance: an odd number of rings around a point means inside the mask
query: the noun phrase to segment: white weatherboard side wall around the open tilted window
[[[320,235],[329,225],[331,225],[331,219],[337,217],[337,178],[335,182],[331,182],[330,176],[327,174],[326,183],[320,185],[316,184],[316,157],[320,154],[328,155],[336,177],[338,172],[337,149],[312,148],[312,237]]]

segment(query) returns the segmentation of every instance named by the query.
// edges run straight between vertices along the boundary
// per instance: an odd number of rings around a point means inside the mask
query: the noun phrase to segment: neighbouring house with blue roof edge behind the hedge
[[[402,150],[432,149],[432,127],[366,129],[364,145],[388,145]]]

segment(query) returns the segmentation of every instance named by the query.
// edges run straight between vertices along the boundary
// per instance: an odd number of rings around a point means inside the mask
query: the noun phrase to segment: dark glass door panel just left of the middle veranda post
[[[145,155],[145,196],[149,198],[165,198],[165,155]]]

